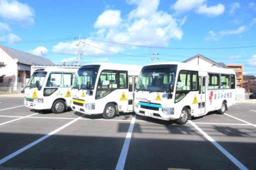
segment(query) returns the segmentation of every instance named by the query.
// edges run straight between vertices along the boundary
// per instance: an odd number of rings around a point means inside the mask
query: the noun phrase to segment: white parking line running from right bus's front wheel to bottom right
[[[217,143],[212,137],[210,137],[206,132],[204,132],[200,127],[198,127],[191,120],[188,120],[191,125],[193,125],[201,134],[204,135],[215,147],[217,147],[227,158],[229,158],[237,167],[240,169],[248,169],[241,162],[239,162],[232,154],[230,154],[226,149],[224,149],[219,143]]]

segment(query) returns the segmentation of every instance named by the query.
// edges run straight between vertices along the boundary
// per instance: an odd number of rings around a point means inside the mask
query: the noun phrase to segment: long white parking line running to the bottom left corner
[[[40,141],[43,141],[44,139],[46,139],[46,138],[50,137],[51,135],[57,133],[58,131],[62,130],[63,128],[69,126],[70,124],[74,123],[75,121],[79,120],[80,118],[81,118],[81,117],[77,117],[76,119],[74,119],[74,120],[68,122],[67,124],[65,124],[65,125],[63,125],[63,126],[57,128],[56,130],[54,130],[54,131],[52,131],[52,132],[50,132],[50,133],[44,135],[43,137],[41,137],[41,138],[39,138],[39,139],[33,141],[32,143],[30,143],[30,144],[28,144],[28,145],[22,147],[21,149],[19,149],[19,150],[13,152],[12,154],[9,154],[8,156],[2,158],[2,159],[0,160],[0,165],[3,164],[4,162],[8,161],[9,159],[11,159],[11,158],[17,156],[18,154],[22,153],[23,151],[29,149],[30,147],[36,145],[36,144],[39,143]]]

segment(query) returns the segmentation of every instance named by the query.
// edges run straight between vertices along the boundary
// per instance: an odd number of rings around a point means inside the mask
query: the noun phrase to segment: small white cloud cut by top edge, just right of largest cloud
[[[173,8],[177,12],[187,12],[193,8],[197,8],[203,4],[205,0],[177,0]]]

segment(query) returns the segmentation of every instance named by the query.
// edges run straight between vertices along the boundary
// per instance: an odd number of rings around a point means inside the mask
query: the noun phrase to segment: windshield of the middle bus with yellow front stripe
[[[84,65],[80,67],[75,75],[73,88],[93,89],[98,73],[99,65]]]

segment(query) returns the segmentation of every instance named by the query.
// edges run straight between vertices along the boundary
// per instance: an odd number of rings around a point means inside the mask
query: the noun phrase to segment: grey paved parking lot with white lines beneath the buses
[[[255,101],[178,125],[34,112],[0,96],[0,169],[256,169]]]

